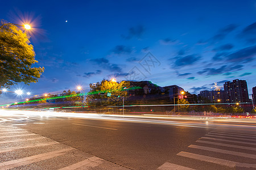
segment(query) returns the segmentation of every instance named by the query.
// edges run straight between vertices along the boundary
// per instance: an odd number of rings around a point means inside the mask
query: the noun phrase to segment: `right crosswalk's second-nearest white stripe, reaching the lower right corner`
[[[177,155],[184,156],[186,158],[201,160],[201,161],[204,161],[204,162],[210,162],[210,163],[214,163],[214,164],[225,165],[225,166],[230,167],[230,168],[234,168],[234,167],[256,168],[256,164],[238,163],[238,162],[233,162],[233,161],[230,161],[230,160],[213,158],[213,157],[210,157],[210,156],[204,156],[204,155],[199,155],[199,154],[192,154],[192,153],[183,152],[183,151],[179,152]]]

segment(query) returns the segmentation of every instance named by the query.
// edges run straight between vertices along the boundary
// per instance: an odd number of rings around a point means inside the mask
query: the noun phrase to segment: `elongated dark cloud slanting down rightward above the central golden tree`
[[[114,72],[122,72],[121,67],[119,67],[117,64],[110,63],[108,59],[106,58],[96,58],[91,59],[90,61],[96,63],[100,67],[102,67],[105,70],[114,71]]]

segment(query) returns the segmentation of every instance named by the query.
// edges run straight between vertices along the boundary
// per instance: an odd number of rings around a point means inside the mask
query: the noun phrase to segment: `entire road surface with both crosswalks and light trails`
[[[256,124],[1,114],[0,169],[256,169]]]

